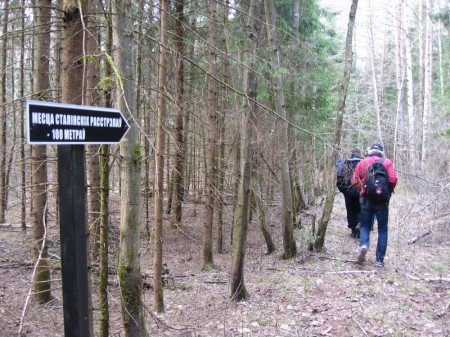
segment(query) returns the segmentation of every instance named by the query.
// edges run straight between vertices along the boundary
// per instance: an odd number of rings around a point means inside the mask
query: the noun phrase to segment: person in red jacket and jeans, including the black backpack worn
[[[370,225],[375,214],[378,221],[375,266],[384,267],[388,241],[389,200],[396,184],[397,172],[392,161],[385,158],[383,145],[373,144],[368,151],[368,157],[359,162],[352,176],[352,185],[359,189],[361,204],[359,264],[366,261]]]

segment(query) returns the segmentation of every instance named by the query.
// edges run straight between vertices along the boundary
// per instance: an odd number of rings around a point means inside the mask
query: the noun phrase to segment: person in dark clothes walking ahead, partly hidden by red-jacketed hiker
[[[361,161],[361,150],[358,147],[352,149],[350,158],[345,160],[337,171],[336,186],[344,195],[345,208],[347,210],[347,227],[350,228],[350,236],[359,238],[359,191],[351,184],[351,178],[356,165]]]

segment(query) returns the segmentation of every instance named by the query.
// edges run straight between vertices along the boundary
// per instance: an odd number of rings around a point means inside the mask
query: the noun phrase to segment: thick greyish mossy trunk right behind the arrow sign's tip
[[[139,144],[136,91],[134,26],[132,1],[116,0],[112,4],[113,56],[122,85],[117,85],[117,108],[128,117],[130,130],[120,143],[120,242],[118,276],[122,299],[122,322],[125,336],[144,336],[146,327],[142,305],[140,264],[140,181],[142,161]]]

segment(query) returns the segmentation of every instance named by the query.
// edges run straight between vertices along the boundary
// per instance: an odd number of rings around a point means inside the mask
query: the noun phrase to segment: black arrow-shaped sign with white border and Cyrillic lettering
[[[26,101],[29,144],[117,144],[130,125],[116,109]]]

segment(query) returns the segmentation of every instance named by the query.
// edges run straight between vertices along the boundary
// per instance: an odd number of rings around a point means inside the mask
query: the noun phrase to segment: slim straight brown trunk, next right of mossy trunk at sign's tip
[[[158,126],[156,130],[155,147],[155,247],[153,258],[153,307],[156,312],[164,312],[164,297],[162,287],[162,241],[163,241],[163,198],[164,198],[164,151],[165,151],[165,121],[167,118],[167,100],[164,94],[167,85],[167,43],[168,43],[168,10],[169,0],[161,0],[161,28],[158,62]]]

